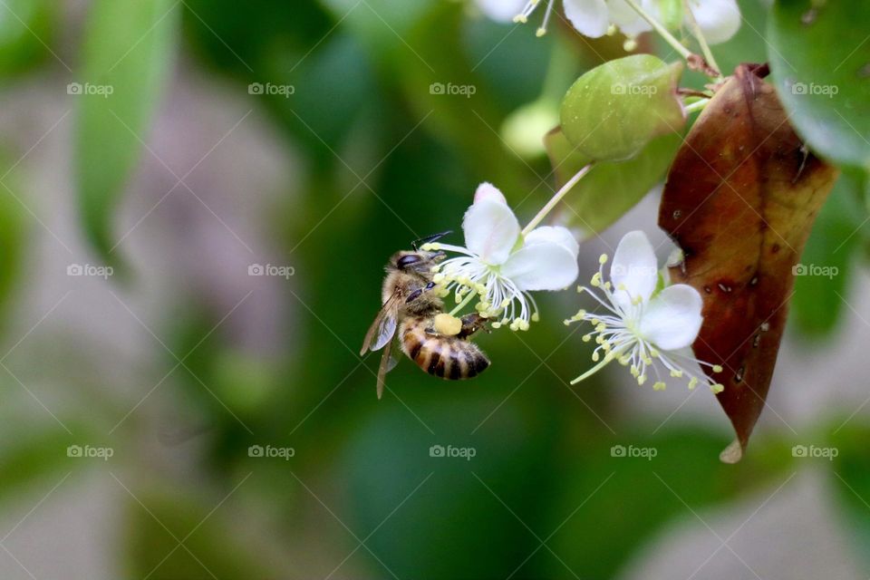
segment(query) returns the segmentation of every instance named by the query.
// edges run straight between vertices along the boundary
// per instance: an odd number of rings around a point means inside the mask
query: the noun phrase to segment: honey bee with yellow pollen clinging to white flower
[[[378,369],[378,399],[383,394],[384,377],[395,366],[391,356],[393,338],[401,342],[401,352],[424,371],[456,381],[470,379],[489,366],[489,359],[469,337],[486,328],[486,318],[467,314],[460,320],[459,333],[447,335],[435,330],[435,316],[444,313],[440,296],[433,292],[432,266],[444,259],[443,252],[418,249],[421,244],[435,241],[450,232],[417,240],[412,251],[396,252],[385,270],[381,312],[375,317],[362,341],[362,351],[383,349]]]

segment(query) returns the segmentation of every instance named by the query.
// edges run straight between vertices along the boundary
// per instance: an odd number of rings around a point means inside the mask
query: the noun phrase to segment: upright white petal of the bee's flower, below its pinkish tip
[[[495,188],[493,188],[495,189]],[[489,265],[504,264],[519,237],[519,222],[507,204],[493,198],[475,201],[462,219],[465,246]]]

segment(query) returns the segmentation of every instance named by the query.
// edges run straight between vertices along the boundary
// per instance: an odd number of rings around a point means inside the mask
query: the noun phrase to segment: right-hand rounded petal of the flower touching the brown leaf
[[[701,330],[703,301],[690,285],[668,286],[652,297],[641,317],[639,331],[665,351],[675,351],[695,342]]]

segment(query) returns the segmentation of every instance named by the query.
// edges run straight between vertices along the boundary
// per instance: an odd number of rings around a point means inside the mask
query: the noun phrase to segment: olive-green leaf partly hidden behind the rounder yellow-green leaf
[[[559,185],[588,163],[558,129],[547,133],[545,142]],[[558,219],[585,236],[603,231],[664,178],[680,143],[679,134],[663,135],[633,159],[599,163],[565,197]]]

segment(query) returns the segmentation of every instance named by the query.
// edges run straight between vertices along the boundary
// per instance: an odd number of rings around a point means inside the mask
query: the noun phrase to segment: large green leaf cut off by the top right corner
[[[865,170],[870,169],[867,23],[870,3],[845,0],[782,0],[768,21],[770,72],[795,130],[822,157]]]

